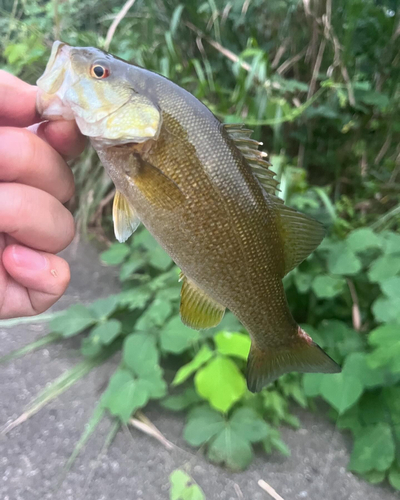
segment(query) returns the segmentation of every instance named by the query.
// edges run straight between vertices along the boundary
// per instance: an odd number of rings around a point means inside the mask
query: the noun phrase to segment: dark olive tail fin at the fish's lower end
[[[282,348],[259,349],[251,345],[247,361],[247,387],[259,392],[284,373],[339,373],[340,366],[307,333],[298,327],[298,339]]]

